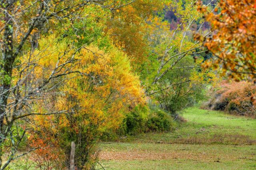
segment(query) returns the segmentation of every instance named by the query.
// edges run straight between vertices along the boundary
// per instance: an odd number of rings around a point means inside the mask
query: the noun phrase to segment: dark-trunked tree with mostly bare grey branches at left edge
[[[70,28],[77,38],[77,29],[73,23],[85,19],[82,10],[88,5],[98,5],[108,10],[117,10],[126,5],[115,4],[116,1],[105,0],[3,0],[0,4],[0,40],[2,54],[0,57],[0,169],[4,169],[15,158],[18,146],[20,145],[26,127],[16,124],[20,120],[26,121],[30,115],[52,115],[70,113],[70,110],[52,109],[50,112],[36,112],[32,104],[39,99],[48,98],[57,94],[54,89],[58,82],[64,82],[66,76],[83,74],[74,69],[79,59],[78,53],[84,47],[76,47],[75,41],[66,43],[62,53],[58,54],[56,60],[48,58],[51,51],[45,44],[39,44],[38,39],[42,35],[53,33],[54,24],[70,22]],[[112,8],[110,6],[113,6]],[[63,35],[65,37],[65,35]],[[76,40],[77,41],[77,40]],[[35,53],[35,49],[42,49]],[[23,59],[23,55],[29,57]],[[42,55],[44,54],[44,55]],[[67,56],[68,55],[68,56]],[[39,59],[48,62],[48,70],[37,63]],[[44,61],[44,62],[46,62]],[[53,65],[51,65],[51,64]],[[36,72],[41,68],[42,72]],[[7,161],[2,165],[3,147],[7,147],[10,154],[6,156]]]

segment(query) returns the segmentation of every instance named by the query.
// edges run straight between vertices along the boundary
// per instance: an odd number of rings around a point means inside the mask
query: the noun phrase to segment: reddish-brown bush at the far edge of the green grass
[[[256,116],[256,86],[250,82],[225,82],[217,90],[210,90],[210,100],[204,103],[204,108],[226,111],[231,114]]]

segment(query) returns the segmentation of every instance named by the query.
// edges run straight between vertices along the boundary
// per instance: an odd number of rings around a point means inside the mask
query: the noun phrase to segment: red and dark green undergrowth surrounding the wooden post
[[[32,148],[38,145],[42,148],[35,150],[33,160],[40,170],[67,169],[70,166],[70,144],[76,144],[76,170],[93,169],[98,161],[97,140],[100,133],[95,125],[86,125],[76,114],[70,117],[65,126],[54,127],[58,131],[53,134],[51,129],[34,133],[30,137]],[[62,119],[62,118],[60,118]]]

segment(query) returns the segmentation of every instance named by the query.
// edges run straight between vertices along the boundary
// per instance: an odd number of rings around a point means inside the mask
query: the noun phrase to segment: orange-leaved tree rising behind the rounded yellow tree
[[[110,34],[114,45],[122,47],[134,67],[139,67],[147,59],[148,38],[164,25],[160,14],[169,3],[169,0],[136,0],[113,12],[107,20],[105,31]]]

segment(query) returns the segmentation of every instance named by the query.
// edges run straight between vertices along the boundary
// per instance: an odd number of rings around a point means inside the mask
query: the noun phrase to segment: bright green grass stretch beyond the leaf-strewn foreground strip
[[[255,145],[256,120],[190,107],[181,114],[187,122],[168,133],[145,133],[121,142]]]

